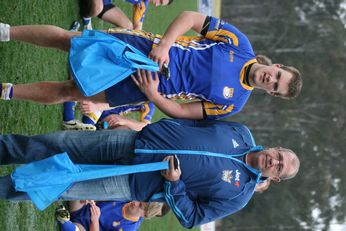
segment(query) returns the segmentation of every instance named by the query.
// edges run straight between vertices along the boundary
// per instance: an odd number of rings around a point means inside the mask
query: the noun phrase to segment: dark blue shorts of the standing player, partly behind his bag
[[[145,55],[148,55],[151,51],[153,41],[150,37],[152,34],[150,33],[138,32],[137,35],[134,35],[130,30],[121,30],[121,32],[111,32],[110,34],[134,46]],[[106,89],[105,93],[107,103],[111,107],[148,101],[147,97],[140,91],[130,76]]]

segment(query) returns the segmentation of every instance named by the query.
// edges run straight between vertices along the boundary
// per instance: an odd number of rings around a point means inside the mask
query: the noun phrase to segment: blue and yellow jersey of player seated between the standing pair
[[[131,112],[139,112],[140,113],[140,121],[150,123],[151,119],[155,112],[155,105],[151,102],[146,102],[143,104],[132,104],[132,105],[124,105],[119,106],[107,111],[103,111],[99,121],[102,121],[104,118],[106,118],[109,115],[116,114],[116,115],[126,115]]]

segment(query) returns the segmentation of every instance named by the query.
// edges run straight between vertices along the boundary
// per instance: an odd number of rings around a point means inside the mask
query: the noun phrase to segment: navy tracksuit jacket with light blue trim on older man
[[[138,201],[159,201],[163,195],[186,228],[242,209],[261,178],[241,159],[262,147],[247,127],[235,122],[163,119],[139,133],[135,148],[134,164],[177,154],[179,181],[165,181],[159,172],[134,174],[131,194]]]

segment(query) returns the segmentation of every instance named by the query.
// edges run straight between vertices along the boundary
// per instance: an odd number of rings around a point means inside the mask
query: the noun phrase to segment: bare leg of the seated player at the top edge
[[[119,7],[116,7],[113,4],[105,5],[98,17],[118,27],[133,29],[131,20]]]

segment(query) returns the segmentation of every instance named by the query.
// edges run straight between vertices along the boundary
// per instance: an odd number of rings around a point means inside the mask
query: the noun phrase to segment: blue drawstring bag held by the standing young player
[[[133,46],[107,33],[90,30],[71,39],[69,64],[85,96],[106,90],[136,69],[159,71],[157,63]]]

